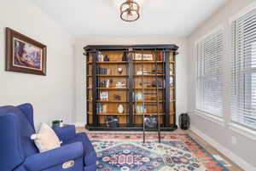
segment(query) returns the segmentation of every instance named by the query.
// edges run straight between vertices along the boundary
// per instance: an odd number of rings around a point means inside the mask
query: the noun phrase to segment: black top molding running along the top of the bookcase
[[[101,51],[129,51],[132,50],[168,50],[177,51],[178,46],[176,44],[135,44],[135,45],[88,45],[84,47],[86,52],[93,52],[96,50]]]

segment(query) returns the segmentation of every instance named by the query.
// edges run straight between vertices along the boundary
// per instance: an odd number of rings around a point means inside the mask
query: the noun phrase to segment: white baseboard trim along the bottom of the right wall
[[[203,140],[206,140],[208,144],[212,145],[215,149],[218,149],[224,156],[229,157],[231,161],[235,162],[238,166],[240,166],[245,171],[256,170],[252,164],[246,162],[241,157],[238,157],[234,152],[230,151],[224,145],[220,145],[216,140],[212,140],[207,134],[201,132],[201,130],[195,128],[194,126],[190,127],[190,130],[195,134],[199,135]]]

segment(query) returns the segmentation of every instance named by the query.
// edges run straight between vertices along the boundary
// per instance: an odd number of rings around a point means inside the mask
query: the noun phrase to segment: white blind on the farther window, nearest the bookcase
[[[223,30],[216,31],[197,44],[196,108],[222,116]]]

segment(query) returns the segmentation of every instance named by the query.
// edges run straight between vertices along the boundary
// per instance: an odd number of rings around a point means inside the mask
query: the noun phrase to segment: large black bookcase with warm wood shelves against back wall
[[[155,117],[160,130],[175,130],[177,48],[174,44],[84,47],[85,127],[142,130],[143,119]],[[118,121],[118,126],[109,125],[109,119]]]

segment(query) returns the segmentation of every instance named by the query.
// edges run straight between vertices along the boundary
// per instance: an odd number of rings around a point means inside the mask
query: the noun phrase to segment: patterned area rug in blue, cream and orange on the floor
[[[98,171],[228,171],[188,134],[88,134]]]

